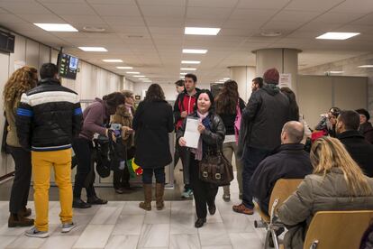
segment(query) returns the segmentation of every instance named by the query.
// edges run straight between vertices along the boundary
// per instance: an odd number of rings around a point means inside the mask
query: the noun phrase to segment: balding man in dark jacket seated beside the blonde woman
[[[284,124],[281,133],[281,145],[259,163],[251,178],[250,188],[257,199],[260,210],[266,215],[269,198],[275,183],[279,179],[302,179],[312,173],[310,155],[301,143],[305,127],[297,121]]]

